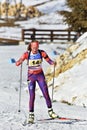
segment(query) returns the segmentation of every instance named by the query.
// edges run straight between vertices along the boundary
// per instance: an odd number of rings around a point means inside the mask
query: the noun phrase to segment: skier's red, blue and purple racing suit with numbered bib
[[[40,53],[39,53],[40,51]],[[45,80],[44,72],[42,70],[42,59],[44,58],[49,64],[54,65],[47,53],[43,50],[39,50],[37,54],[32,52],[25,52],[21,58],[16,62],[16,66],[19,66],[25,59],[28,60],[28,90],[29,90],[29,111],[34,112],[35,101],[35,87],[38,83],[48,108],[52,107],[51,99],[48,92],[47,83]]]

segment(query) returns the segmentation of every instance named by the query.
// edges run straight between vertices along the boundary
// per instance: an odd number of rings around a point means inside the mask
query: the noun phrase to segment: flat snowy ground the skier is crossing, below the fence
[[[56,44],[56,47],[58,45]],[[54,45],[41,45],[51,58]],[[54,48],[55,49],[55,48]],[[27,87],[26,62],[23,64],[23,82],[21,97],[21,112],[19,110],[19,87],[20,87],[20,66],[16,67],[10,63],[10,58],[18,59],[26,50],[26,45],[0,46],[0,130],[86,130],[87,121],[38,121],[48,118],[47,107],[44,98],[36,91],[35,100],[35,124],[23,126],[22,123],[28,116],[28,93],[24,90]],[[49,66],[46,64],[45,67]],[[74,74],[72,71],[71,74]],[[60,80],[61,82],[61,80]],[[72,85],[73,86],[73,85]],[[71,89],[74,89],[71,87]],[[78,89],[79,86],[78,86]],[[68,90],[69,91],[69,90]],[[62,92],[62,91],[61,91]],[[60,92],[60,93],[61,93]],[[61,93],[62,94],[62,93]],[[51,96],[51,95],[50,95]],[[63,97],[63,95],[61,95]],[[63,117],[87,119],[87,108],[53,102],[55,112]]]

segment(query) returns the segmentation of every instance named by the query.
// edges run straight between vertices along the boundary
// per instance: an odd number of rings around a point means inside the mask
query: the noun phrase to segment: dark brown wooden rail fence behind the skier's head
[[[73,40],[75,32],[71,30],[22,29],[22,41],[32,41],[31,36],[41,42],[63,42]]]

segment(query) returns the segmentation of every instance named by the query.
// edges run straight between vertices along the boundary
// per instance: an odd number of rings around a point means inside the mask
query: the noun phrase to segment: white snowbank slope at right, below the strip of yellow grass
[[[87,78],[86,66],[87,59],[85,59],[81,65],[74,66],[72,69],[57,78],[55,84],[60,86],[60,89],[55,94],[57,99],[72,102],[76,105],[85,104],[87,106],[87,83],[85,81],[85,78]],[[72,100],[72,97],[76,97],[75,102]]]

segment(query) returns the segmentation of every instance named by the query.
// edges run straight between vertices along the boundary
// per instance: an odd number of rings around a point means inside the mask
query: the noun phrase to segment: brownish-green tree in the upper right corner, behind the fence
[[[67,11],[60,11],[64,22],[74,31],[87,31],[87,0],[66,0]]]

